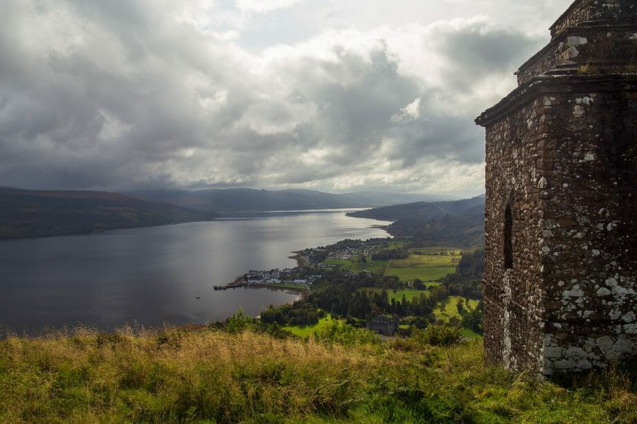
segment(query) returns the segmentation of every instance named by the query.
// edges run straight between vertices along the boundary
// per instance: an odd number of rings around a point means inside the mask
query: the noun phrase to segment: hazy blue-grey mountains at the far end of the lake
[[[249,188],[213,190],[141,190],[131,196],[173,203],[201,211],[241,214],[273,210],[373,208],[414,201],[445,200],[445,196],[359,192],[330,194],[314,190],[253,190]],[[449,198],[447,198],[449,199]]]

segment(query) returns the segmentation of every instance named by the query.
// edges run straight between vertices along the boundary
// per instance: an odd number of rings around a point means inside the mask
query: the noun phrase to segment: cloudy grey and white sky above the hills
[[[571,0],[3,0],[0,185],[469,196]]]

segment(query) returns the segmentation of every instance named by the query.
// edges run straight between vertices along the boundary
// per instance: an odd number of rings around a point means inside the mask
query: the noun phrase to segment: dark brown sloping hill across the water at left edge
[[[0,239],[208,221],[219,214],[107,192],[0,187]]]

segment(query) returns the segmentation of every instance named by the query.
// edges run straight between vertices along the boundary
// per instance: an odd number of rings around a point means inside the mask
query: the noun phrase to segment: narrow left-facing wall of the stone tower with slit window
[[[541,102],[528,102],[487,127],[485,345],[487,361],[541,367]],[[505,210],[512,212],[512,268],[505,267]]]

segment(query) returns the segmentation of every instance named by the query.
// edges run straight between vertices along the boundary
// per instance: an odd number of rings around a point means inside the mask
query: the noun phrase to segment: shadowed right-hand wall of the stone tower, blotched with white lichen
[[[544,374],[637,353],[637,80],[544,95]]]

